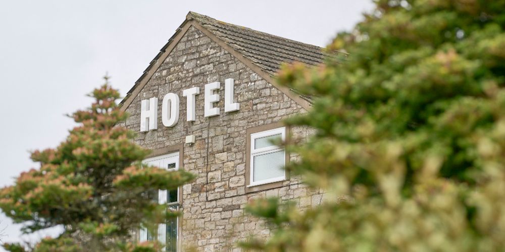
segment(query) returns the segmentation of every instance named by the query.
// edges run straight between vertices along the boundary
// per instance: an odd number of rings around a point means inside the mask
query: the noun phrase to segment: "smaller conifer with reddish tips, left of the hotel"
[[[57,238],[44,238],[34,251],[156,251],[153,242],[128,243],[131,230],[153,227],[177,213],[158,205],[149,192],[177,188],[193,178],[184,170],[141,167],[148,150],[133,143],[135,134],[116,126],[127,118],[107,83],[91,94],[95,101],[72,117],[79,123],[56,149],[35,151],[40,162],[0,190],[0,208],[23,231],[61,225]],[[19,244],[4,244],[24,251]]]

